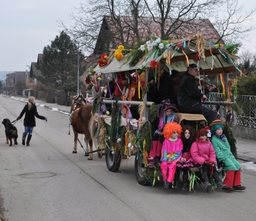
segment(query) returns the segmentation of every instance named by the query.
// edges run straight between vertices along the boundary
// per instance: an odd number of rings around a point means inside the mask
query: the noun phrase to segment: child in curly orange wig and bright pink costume
[[[181,141],[181,125],[174,123],[167,123],[163,128],[163,135],[165,141],[163,142],[161,154],[161,170],[163,174],[163,181],[165,181],[165,189],[170,188],[170,184],[174,180],[176,172],[176,162],[181,159],[181,151],[183,144]],[[167,176],[168,174],[168,176]]]

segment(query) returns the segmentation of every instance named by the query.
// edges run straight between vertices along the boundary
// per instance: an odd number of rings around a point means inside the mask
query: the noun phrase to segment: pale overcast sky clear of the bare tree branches
[[[38,53],[59,35],[58,20],[71,26],[68,14],[80,5],[81,0],[0,0],[0,71],[24,71],[37,61]],[[241,1],[250,10],[255,0]],[[246,24],[254,24],[253,21]],[[256,31],[251,32],[251,42],[242,42],[244,48],[256,46]]]

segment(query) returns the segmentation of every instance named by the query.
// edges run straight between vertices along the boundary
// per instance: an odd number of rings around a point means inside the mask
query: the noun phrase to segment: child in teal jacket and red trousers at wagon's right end
[[[216,119],[210,124],[212,131],[212,146],[216,153],[219,165],[226,171],[226,177],[223,181],[226,184],[226,191],[242,191],[246,186],[241,186],[241,164],[237,162],[230,151],[230,144],[223,135],[224,123]]]

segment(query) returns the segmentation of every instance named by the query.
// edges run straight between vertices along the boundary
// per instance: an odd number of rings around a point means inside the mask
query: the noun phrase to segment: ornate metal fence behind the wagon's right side
[[[223,94],[210,93],[209,101],[222,101]],[[237,95],[234,96],[234,102],[237,104],[237,111],[234,115],[233,124],[256,128],[256,96]],[[220,108],[217,105],[208,105],[219,115]],[[223,108],[223,115],[226,116],[227,110]]]

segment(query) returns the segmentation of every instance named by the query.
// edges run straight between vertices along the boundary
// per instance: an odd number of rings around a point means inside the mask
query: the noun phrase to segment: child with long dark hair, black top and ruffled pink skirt
[[[193,160],[190,153],[190,147],[196,140],[194,131],[191,126],[183,126],[181,132],[181,140],[183,142],[183,150],[181,154],[181,160],[176,164],[176,173],[174,177],[174,188],[179,189],[179,177],[180,171],[183,171],[183,187],[182,190],[188,189],[188,169],[193,167]]]

